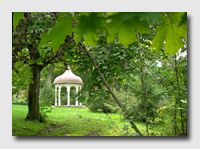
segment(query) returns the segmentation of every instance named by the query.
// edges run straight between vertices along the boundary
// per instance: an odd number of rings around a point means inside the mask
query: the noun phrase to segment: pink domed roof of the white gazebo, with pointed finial
[[[71,72],[70,67],[68,66],[68,70],[66,70],[62,75],[55,78],[54,83],[59,82],[83,82],[82,79]]]

